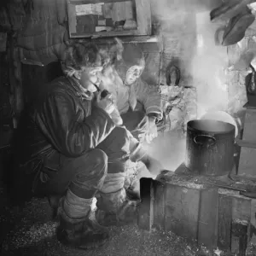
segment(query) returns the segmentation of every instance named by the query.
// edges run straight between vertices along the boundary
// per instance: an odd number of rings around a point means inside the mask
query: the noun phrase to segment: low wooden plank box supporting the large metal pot
[[[238,191],[142,178],[141,197],[138,226],[143,230],[172,231],[209,250],[240,256],[255,241],[255,200]]]

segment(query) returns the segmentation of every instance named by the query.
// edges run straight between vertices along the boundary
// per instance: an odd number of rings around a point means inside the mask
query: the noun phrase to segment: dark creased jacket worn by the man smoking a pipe
[[[78,157],[96,148],[114,127],[108,113],[94,106],[79,84],[61,77],[38,90],[21,117],[16,153],[21,165],[43,159],[55,150]]]

